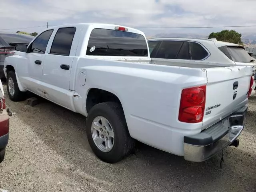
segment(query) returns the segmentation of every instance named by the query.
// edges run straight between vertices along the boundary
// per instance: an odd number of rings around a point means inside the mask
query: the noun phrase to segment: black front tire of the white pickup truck
[[[14,94],[10,93],[9,87],[12,86],[11,84],[13,83],[14,86]],[[26,92],[20,91],[16,79],[16,74],[14,71],[10,71],[7,74],[7,79],[6,79],[6,86],[7,86],[7,92],[9,95],[10,100],[12,101],[22,101],[25,100],[26,98]]]

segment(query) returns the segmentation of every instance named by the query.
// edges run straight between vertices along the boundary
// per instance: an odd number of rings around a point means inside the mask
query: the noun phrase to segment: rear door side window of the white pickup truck
[[[59,28],[49,54],[69,56],[75,32],[74,27]]]

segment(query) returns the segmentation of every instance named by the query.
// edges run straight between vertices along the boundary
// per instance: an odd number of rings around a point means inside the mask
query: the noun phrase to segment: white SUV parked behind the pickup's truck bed
[[[256,69],[255,58],[251,57],[245,47],[202,38],[153,38],[148,40],[150,57],[172,59],[174,62],[199,62],[222,66],[246,65],[253,67],[253,78]],[[250,90],[250,96],[255,94],[256,83]]]

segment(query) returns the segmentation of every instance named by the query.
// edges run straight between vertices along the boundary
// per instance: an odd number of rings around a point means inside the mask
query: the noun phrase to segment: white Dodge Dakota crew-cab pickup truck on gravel
[[[109,24],[46,29],[5,60],[11,100],[33,92],[87,117],[98,158],[114,163],[138,140],[201,162],[238,146],[252,67],[149,57],[143,32]]]

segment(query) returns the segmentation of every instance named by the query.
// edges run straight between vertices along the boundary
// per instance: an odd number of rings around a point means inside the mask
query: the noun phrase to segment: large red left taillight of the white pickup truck
[[[182,90],[179,121],[198,123],[204,118],[206,85]]]

